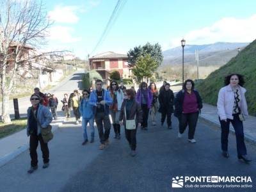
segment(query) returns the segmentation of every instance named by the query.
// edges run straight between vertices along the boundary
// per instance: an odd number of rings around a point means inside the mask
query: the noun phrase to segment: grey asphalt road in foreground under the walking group
[[[237,161],[236,141],[230,134],[230,158],[220,155],[220,130],[200,121],[196,144],[186,135],[177,138],[177,119],[173,129],[157,125],[138,131],[138,155],[129,156],[124,138],[111,139],[105,150],[99,150],[99,139],[82,146],[81,125],[65,123],[50,143],[51,166],[28,175],[29,152],[26,151],[0,168],[1,191],[255,191],[256,164]],[[113,138],[113,130],[111,130]],[[256,159],[255,145],[246,143],[248,154]],[[39,155],[38,157],[40,157]],[[172,189],[176,176],[250,176],[253,188],[241,189]],[[234,183],[233,183],[234,184]]]

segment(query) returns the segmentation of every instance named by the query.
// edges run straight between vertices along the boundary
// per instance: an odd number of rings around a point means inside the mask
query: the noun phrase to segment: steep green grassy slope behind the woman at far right
[[[196,84],[196,89],[200,91],[204,102],[216,105],[218,92],[224,86],[224,77],[231,73],[239,73],[244,76],[249,113],[256,116],[256,40],[228,61],[226,65]]]

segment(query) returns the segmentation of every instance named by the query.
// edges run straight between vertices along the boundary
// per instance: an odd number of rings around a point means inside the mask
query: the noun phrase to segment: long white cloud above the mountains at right
[[[184,37],[186,44],[212,44],[214,42],[252,42],[256,38],[256,15],[246,19],[226,17],[216,21],[212,26],[190,31],[184,36],[171,40],[169,46],[180,45]]]

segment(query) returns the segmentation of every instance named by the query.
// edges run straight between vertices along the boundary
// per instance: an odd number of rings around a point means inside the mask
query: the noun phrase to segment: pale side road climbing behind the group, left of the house
[[[54,93],[56,97],[59,99],[58,111],[61,111],[62,104],[60,100],[63,99],[64,93],[71,93],[75,89],[80,89],[82,87],[82,76],[84,70],[78,70],[74,74],[67,77],[67,80],[61,82],[58,86],[52,88],[51,90],[47,91],[47,93]],[[33,85],[32,85],[33,86]],[[1,104],[1,103],[0,103]],[[29,97],[22,97],[19,99],[19,111],[20,116],[26,116],[28,106],[31,105],[29,101]],[[10,116],[14,118],[14,108],[13,102],[10,100]],[[0,114],[2,113],[2,106],[0,105]],[[0,116],[1,117],[1,116]]]

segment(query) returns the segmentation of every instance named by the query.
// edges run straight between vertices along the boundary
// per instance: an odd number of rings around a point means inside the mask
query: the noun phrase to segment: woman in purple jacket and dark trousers
[[[141,124],[141,129],[147,130],[148,127],[148,113],[151,108],[153,100],[153,95],[148,89],[148,85],[146,82],[142,82],[140,84],[140,89],[136,94],[136,102],[141,105],[141,109],[143,111],[143,120]]]

